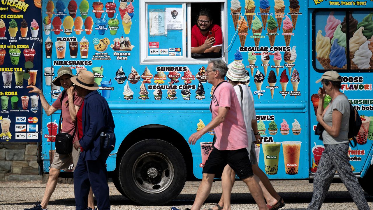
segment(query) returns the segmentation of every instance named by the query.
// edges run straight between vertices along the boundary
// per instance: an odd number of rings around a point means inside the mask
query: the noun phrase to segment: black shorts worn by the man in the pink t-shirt
[[[237,150],[219,150],[214,148],[203,167],[202,173],[214,174],[215,178],[220,179],[224,167],[228,164],[241,180],[253,176],[253,169],[251,169],[248,155],[246,148]]]

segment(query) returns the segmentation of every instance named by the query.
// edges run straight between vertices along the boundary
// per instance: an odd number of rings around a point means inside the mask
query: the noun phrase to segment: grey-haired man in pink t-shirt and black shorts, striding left
[[[236,92],[233,86],[224,80],[228,68],[222,59],[210,60],[206,68],[207,81],[215,87],[210,110],[212,120],[203,129],[189,137],[189,143],[195,144],[205,133],[214,129],[214,149],[203,167],[203,179],[198,188],[191,210],[200,210],[210,194],[214,177],[222,177],[224,206],[229,209],[231,203],[231,173],[223,173],[225,167],[231,167],[244,181],[260,210],[268,210],[263,192],[255,181],[247,152],[247,133]],[[175,207],[173,207],[176,210]]]

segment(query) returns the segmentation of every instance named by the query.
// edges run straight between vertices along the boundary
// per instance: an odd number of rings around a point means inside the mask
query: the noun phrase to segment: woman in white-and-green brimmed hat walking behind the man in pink
[[[247,86],[247,83],[250,81],[250,77],[246,74],[244,64],[240,61],[235,61],[229,65],[227,72],[227,81],[234,86],[236,95],[241,105],[242,114],[244,115],[244,121],[246,125],[246,131],[248,135],[248,147],[247,151],[249,152],[251,167],[253,168],[253,173],[256,181],[262,183],[261,189],[263,191],[264,198],[267,201],[267,207],[270,210],[277,210],[285,206],[282,198],[277,194],[272,184],[270,183],[268,177],[264,172],[258,167],[258,161],[255,152],[255,145],[260,142],[260,134],[258,132],[258,124],[256,119],[256,113],[254,109],[254,98],[251,93],[250,88]],[[232,186],[235,182],[236,174],[231,168],[225,167],[225,172],[229,173],[231,171],[231,181]],[[223,195],[220,198],[220,201],[212,210],[221,210],[223,209]]]

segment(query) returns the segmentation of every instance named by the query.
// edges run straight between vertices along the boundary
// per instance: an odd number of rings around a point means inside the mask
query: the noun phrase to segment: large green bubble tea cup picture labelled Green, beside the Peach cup
[[[280,142],[263,143],[264,170],[268,175],[275,175],[279,166]]]

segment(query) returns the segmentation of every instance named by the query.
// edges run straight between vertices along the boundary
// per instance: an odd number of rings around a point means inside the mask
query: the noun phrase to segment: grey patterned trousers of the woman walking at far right
[[[338,175],[341,177],[348,192],[350,192],[357,208],[359,210],[369,210],[363,189],[361,189],[357,177],[351,171],[351,165],[348,161],[348,143],[324,146],[325,151],[317,167],[312,201],[308,205],[308,210],[319,210],[321,208],[335,171],[338,171]]]

